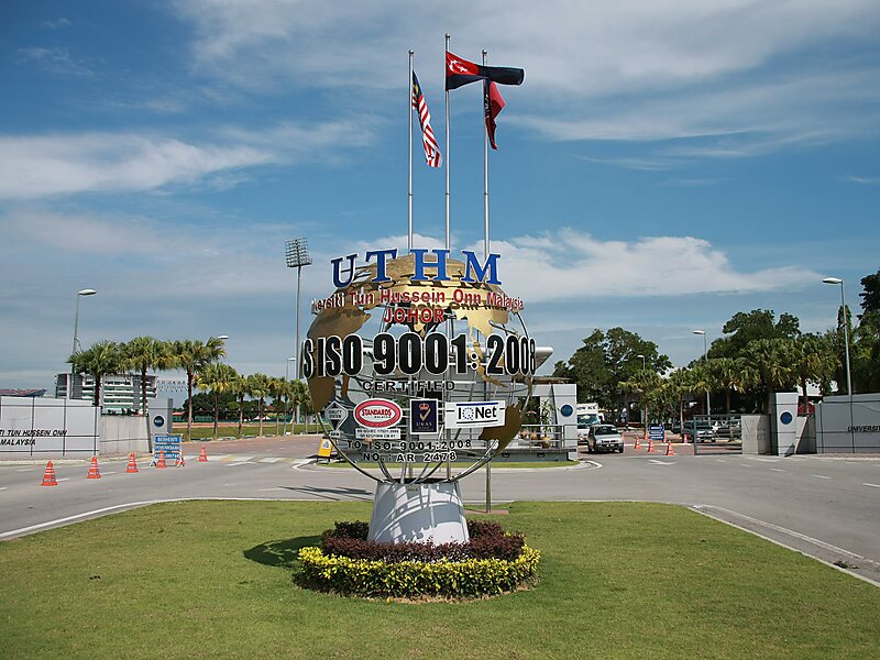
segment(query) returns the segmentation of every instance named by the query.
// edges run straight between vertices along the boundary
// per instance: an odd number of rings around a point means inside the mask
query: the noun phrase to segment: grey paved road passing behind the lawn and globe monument
[[[319,468],[309,455],[317,439],[290,438],[188,446],[187,465],[156,470],[141,461],[102,461],[100,480],[86,480],[85,462],[56,463],[57,487],[40,487],[44,465],[0,465],[0,539],[38,531],[133,505],[191,497],[363,499],[373,483],[346,469]],[[663,446],[664,449],[664,446]],[[690,506],[777,542],[880,582],[880,459],[825,457],[694,457],[584,454],[578,468],[492,471],[496,503],[648,501]],[[462,482],[466,502],[485,501],[484,472]]]

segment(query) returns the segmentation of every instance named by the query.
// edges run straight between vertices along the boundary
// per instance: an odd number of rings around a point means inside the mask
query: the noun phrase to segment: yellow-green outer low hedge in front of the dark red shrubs
[[[475,597],[509,592],[535,576],[541,553],[524,546],[519,557],[389,563],[324,554],[320,548],[299,551],[306,584],[343,595],[418,598]]]

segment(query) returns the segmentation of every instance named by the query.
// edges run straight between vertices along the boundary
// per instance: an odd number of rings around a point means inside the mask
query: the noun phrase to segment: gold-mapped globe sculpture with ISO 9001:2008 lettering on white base
[[[459,482],[519,432],[535,340],[521,300],[462,261],[442,279],[414,279],[411,253],[383,266],[352,262],[349,284],[312,302],[304,375],[338,454],[377,482],[370,538],[463,542]]]

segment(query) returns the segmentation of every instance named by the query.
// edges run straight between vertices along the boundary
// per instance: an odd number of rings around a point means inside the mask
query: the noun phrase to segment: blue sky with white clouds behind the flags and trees
[[[745,0],[44,2],[0,8],[0,387],[80,340],[293,353],[284,241],[406,248],[407,51],[443,146],[451,51],[526,69],[491,154],[493,251],[539,344],[623,326],[673,363],[736,311],[834,321],[880,267],[880,4]],[[480,88],[452,92],[452,242],[482,240]],[[417,245],[443,173],[415,136]],[[447,154],[444,154],[447,155]]]

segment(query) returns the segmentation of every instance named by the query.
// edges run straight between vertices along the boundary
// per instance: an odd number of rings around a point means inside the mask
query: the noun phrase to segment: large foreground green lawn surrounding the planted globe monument
[[[0,543],[4,658],[877,658],[880,590],[693,512],[515,503],[537,588],[407,605],[296,587],[364,503],[156,505]]]

